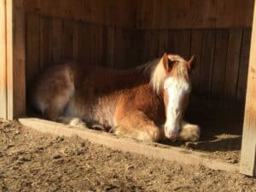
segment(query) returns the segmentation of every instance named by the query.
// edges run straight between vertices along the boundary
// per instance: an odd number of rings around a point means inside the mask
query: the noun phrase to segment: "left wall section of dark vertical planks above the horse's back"
[[[130,28],[27,14],[27,81],[31,82],[41,69],[62,61],[114,68],[136,65],[136,34]]]

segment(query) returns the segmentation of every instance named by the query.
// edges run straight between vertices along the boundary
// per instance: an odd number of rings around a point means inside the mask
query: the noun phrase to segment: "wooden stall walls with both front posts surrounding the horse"
[[[26,90],[61,61],[121,69],[164,52],[196,55],[188,119],[208,129],[206,137],[242,132],[240,171],[255,175],[253,7],[253,0],[1,0],[0,117],[29,115]]]

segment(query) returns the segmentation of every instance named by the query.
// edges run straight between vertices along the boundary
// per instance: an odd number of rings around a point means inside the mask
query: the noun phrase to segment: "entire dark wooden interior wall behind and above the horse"
[[[61,61],[128,68],[171,52],[197,56],[195,93],[244,102],[253,0],[24,3],[28,83]]]

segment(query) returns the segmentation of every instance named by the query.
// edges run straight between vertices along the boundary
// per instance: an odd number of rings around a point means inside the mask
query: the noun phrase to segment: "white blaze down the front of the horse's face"
[[[185,79],[168,78],[165,81],[164,89],[168,95],[165,134],[166,137],[175,137],[181,129],[183,98],[189,94],[190,84]]]

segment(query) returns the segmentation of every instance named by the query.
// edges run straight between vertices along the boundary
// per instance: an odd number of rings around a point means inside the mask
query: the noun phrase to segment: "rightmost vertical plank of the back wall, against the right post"
[[[246,91],[247,91],[247,73],[249,63],[249,53],[251,44],[252,29],[243,29],[242,44],[241,44],[241,55],[239,65],[239,76],[238,84],[236,89],[236,99],[241,102],[242,105],[245,103]]]

